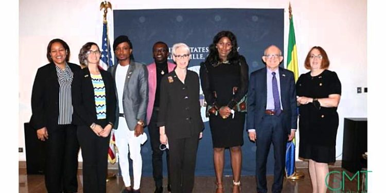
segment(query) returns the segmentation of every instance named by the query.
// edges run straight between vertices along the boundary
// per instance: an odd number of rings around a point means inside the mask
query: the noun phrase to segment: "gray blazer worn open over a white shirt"
[[[119,65],[119,64],[117,64]],[[115,72],[117,65],[108,69],[115,80]],[[116,117],[118,117],[119,110],[118,100],[123,100],[123,112],[129,130],[133,131],[139,119],[146,124],[146,109],[148,103],[148,71],[145,65],[130,61],[129,69],[126,73],[125,88],[122,98],[118,96],[116,85],[115,93],[117,96]],[[116,119],[114,129],[118,128],[118,118]]]

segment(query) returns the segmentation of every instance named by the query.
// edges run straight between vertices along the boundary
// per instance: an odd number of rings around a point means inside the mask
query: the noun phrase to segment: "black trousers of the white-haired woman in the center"
[[[182,139],[168,139],[172,193],[191,193],[193,190],[198,141],[199,135]]]

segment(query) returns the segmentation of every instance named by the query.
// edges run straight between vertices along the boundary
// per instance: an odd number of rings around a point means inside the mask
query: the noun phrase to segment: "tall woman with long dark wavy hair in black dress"
[[[200,66],[201,87],[207,103],[214,148],[216,192],[223,192],[224,150],[230,148],[233,192],[240,192],[240,173],[248,90],[248,64],[238,54],[235,35],[221,31],[209,46],[209,55]]]

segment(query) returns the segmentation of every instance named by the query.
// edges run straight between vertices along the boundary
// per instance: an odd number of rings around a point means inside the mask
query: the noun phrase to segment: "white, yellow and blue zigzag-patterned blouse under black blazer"
[[[91,75],[91,81],[94,86],[95,97],[95,109],[97,113],[97,119],[106,118],[106,90],[104,88],[104,82],[102,75]]]

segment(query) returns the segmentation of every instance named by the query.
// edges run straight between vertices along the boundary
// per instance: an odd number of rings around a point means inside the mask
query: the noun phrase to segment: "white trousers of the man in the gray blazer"
[[[127,128],[124,117],[119,117],[118,129],[115,132],[115,144],[118,148],[118,163],[125,186],[131,186],[129,158],[133,161],[134,189],[139,189],[142,176],[141,138],[134,136],[134,131]]]

